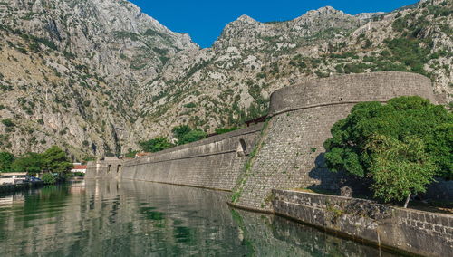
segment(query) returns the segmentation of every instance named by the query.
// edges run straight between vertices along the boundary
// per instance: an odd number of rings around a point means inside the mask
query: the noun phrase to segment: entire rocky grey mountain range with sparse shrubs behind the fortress
[[[59,144],[120,154],[189,124],[212,132],[265,115],[272,91],[338,73],[413,71],[452,100],[452,3],[389,14],[332,7],[294,20],[242,15],[211,48],[122,0],[0,2],[0,150]]]

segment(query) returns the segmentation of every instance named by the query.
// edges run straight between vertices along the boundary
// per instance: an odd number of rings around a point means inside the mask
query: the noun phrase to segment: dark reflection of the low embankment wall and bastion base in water
[[[253,256],[395,256],[279,216],[242,210],[232,210],[232,214],[239,237]]]

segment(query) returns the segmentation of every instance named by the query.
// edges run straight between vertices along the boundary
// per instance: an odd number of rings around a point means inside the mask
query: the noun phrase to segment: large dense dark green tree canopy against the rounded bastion
[[[354,176],[374,179],[373,172],[379,163],[381,167],[389,167],[388,175],[395,179],[398,176],[395,170],[404,166],[413,168],[414,172],[418,166],[420,174],[424,172],[428,180],[427,167],[434,176],[453,179],[453,114],[429,100],[400,97],[387,104],[359,103],[346,119],[333,125],[331,132],[333,138],[324,142],[324,148],[327,167],[334,172],[344,170]],[[376,138],[385,138],[382,141],[389,148],[371,148]],[[415,145],[418,153],[401,151],[413,150]],[[389,156],[389,152],[393,154]],[[389,166],[383,165],[384,161]],[[426,181],[420,180],[422,182]],[[378,182],[374,180],[374,183]],[[375,194],[386,199],[376,191],[379,184],[374,185]]]

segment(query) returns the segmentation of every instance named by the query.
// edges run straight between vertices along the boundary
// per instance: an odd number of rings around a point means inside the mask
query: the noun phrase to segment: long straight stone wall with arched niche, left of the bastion
[[[231,191],[261,128],[262,124],[256,124],[149,157],[92,162],[87,167],[87,177],[119,177]]]

